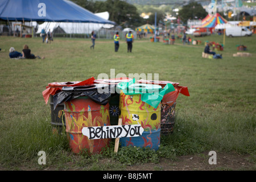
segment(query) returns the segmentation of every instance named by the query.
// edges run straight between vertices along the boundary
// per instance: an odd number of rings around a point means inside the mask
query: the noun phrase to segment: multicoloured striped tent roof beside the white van
[[[201,24],[201,28],[214,28],[217,24],[227,23],[228,21],[225,20],[220,14],[216,13],[216,16],[207,15]]]

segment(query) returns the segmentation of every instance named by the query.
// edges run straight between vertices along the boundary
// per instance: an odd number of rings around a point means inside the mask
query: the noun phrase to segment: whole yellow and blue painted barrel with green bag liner
[[[122,84],[122,83],[121,83]],[[172,85],[171,85],[172,86]],[[119,85],[119,118],[123,125],[139,124],[144,131],[140,137],[120,138],[121,146],[149,147],[158,150],[160,146],[160,115],[162,96],[172,92],[170,85],[162,89],[159,85],[130,84]],[[126,88],[125,88],[126,87]]]

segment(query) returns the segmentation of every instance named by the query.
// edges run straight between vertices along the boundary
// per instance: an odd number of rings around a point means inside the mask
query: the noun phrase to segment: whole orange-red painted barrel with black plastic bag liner
[[[82,134],[83,127],[109,126],[109,94],[100,94],[97,89],[108,85],[90,84],[64,87],[56,95],[57,102],[64,102],[66,133],[71,150],[79,154],[96,154],[108,147],[110,139],[90,140]],[[56,105],[56,104],[55,104]]]

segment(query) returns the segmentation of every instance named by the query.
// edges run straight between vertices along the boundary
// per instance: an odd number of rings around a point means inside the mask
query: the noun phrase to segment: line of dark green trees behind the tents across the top
[[[71,0],[77,5],[84,7],[92,13],[109,12],[109,20],[117,23],[118,26],[135,28],[142,24],[155,24],[155,13],[157,14],[157,23],[164,22],[165,16],[168,13],[173,14],[172,10],[175,8],[167,6],[168,9],[161,10],[157,7],[151,8],[148,19],[143,19],[136,6],[131,5],[126,1],[120,0],[106,0],[106,1],[92,1],[92,0]],[[137,5],[138,6],[138,5]],[[149,10],[149,9],[148,9]],[[180,8],[179,14],[176,16],[182,20],[184,24],[188,19],[205,18],[207,12],[203,9],[200,3],[190,1],[187,5]]]

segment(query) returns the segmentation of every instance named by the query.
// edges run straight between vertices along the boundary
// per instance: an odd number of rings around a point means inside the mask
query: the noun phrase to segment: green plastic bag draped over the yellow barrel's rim
[[[141,94],[141,100],[156,108],[167,93],[175,91],[172,84],[167,84],[162,89],[160,85],[134,84],[135,78],[129,82],[120,82],[117,89],[121,89],[126,95]]]

